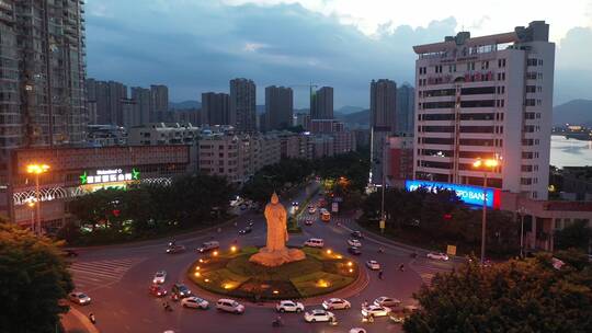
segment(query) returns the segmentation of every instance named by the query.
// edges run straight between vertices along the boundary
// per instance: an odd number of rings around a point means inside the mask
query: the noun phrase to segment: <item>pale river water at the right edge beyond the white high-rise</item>
[[[592,141],[551,136],[550,164],[557,168],[592,165]]]

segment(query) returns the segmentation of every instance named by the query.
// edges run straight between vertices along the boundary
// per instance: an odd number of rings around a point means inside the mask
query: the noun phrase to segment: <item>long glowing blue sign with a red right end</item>
[[[456,195],[467,205],[483,205],[483,195],[486,196],[487,207],[500,208],[499,188],[490,188],[473,185],[460,185],[451,183],[440,183],[430,181],[405,181],[405,188],[409,192],[423,187],[428,191],[448,190],[454,191]]]

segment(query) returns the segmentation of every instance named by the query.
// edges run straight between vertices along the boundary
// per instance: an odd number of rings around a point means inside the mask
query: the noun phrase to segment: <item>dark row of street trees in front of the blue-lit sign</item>
[[[378,229],[380,192],[373,193],[363,204],[361,222]],[[407,192],[388,188],[385,192],[386,228],[388,237],[425,246],[445,250],[446,244],[458,246],[462,253],[478,253],[481,237],[481,210],[465,205],[456,193],[420,188]],[[520,226],[510,214],[488,211],[488,254],[517,254]]]

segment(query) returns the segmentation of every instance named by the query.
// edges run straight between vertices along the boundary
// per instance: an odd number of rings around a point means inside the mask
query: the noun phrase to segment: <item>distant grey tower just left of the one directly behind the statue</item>
[[[230,125],[238,131],[257,131],[255,92],[252,80],[230,80]]]

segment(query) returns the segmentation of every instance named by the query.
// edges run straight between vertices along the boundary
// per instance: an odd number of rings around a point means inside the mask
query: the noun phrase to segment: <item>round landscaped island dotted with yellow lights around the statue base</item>
[[[196,261],[187,275],[197,286],[250,300],[299,299],[329,294],[352,284],[355,262],[331,250],[305,248],[306,259],[276,267],[249,261],[257,248],[231,248]]]

